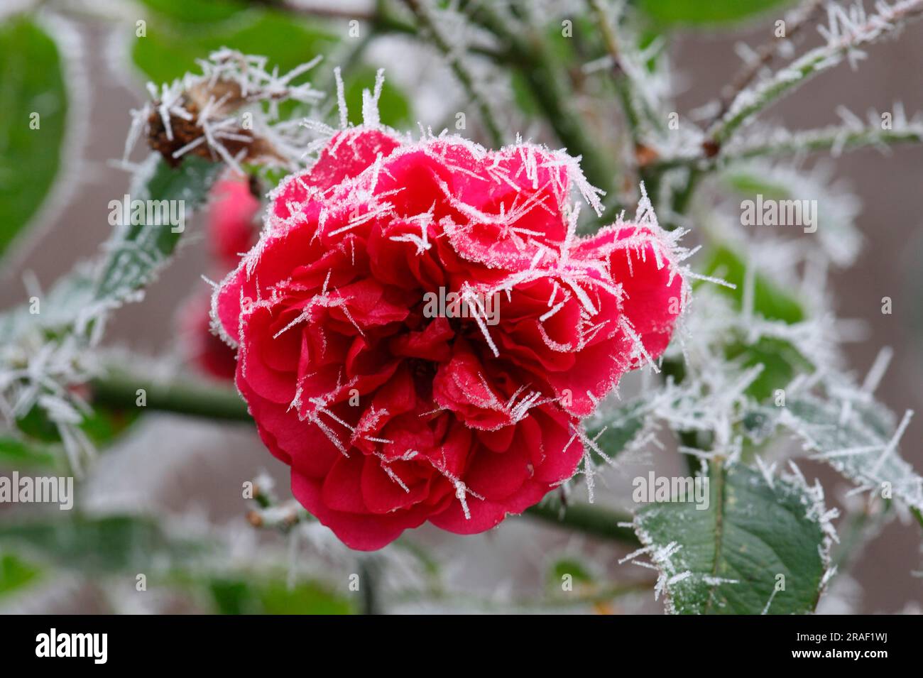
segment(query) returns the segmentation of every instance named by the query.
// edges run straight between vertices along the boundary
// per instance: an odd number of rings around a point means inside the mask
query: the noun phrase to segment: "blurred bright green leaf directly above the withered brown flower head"
[[[278,65],[283,73],[318,54],[329,53],[336,41],[329,31],[290,14],[253,9],[205,29],[198,25],[150,25],[147,35],[136,39],[132,59],[153,82],[172,82],[197,71],[196,59],[230,47],[244,54],[266,56],[270,66]],[[308,73],[304,79],[310,77]]]

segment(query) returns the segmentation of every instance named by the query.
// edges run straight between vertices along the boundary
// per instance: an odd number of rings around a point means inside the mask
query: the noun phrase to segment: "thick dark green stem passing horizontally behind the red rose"
[[[149,410],[226,422],[253,422],[246,403],[226,387],[203,386],[182,380],[157,381],[121,370],[110,370],[90,382],[90,389],[95,403],[115,409],[137,408],[138,389],[143,389]],[[291,514],[276,513],[273,516],[285,524],[306,518],[304,512],[294,509]],[[630,545],[640,543],[630,528],[619,526],[619,523],[630,522],[631,518],[603,506],[571,504],[562,508],[560,500],[549,497],[543,504],[526,509],[525,515],[609,541]],[[263,520],[259,524],[266,522]]]

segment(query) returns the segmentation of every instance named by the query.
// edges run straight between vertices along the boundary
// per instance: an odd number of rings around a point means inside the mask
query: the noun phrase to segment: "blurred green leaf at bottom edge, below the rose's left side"
[[[217,578],[209,591],[221,614],[352,614],[353,604],[315,582],[289,589],[279,580]]]

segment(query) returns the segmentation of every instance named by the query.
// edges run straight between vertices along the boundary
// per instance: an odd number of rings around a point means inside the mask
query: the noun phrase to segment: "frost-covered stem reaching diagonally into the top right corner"
[[[904,0],[891,7],[882,7],[881,10],[881,14],[872,16],[866,23],[847,28],[845,35],[832,37],[827,44],[804,54],[772,77],[739,92],[725,117],[709,130],[706,148],[720,149],[752,116],[797,89],[810,77],[839,65],[845,55],[877,42],[906,21],[919,18],[923,15],[923,0]]]

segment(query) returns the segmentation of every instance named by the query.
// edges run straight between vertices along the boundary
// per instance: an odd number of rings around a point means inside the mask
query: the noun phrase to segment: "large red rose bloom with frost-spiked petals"
[[[348,546],[533,506],[584,458],[581,418],[664,351],[673,239],[653,221],[578,237],[575,186],[599,208],[561,151],[359,127],[270,196],[212,314],[294,496]],[[440,291],[468,313],[426,313]]]

